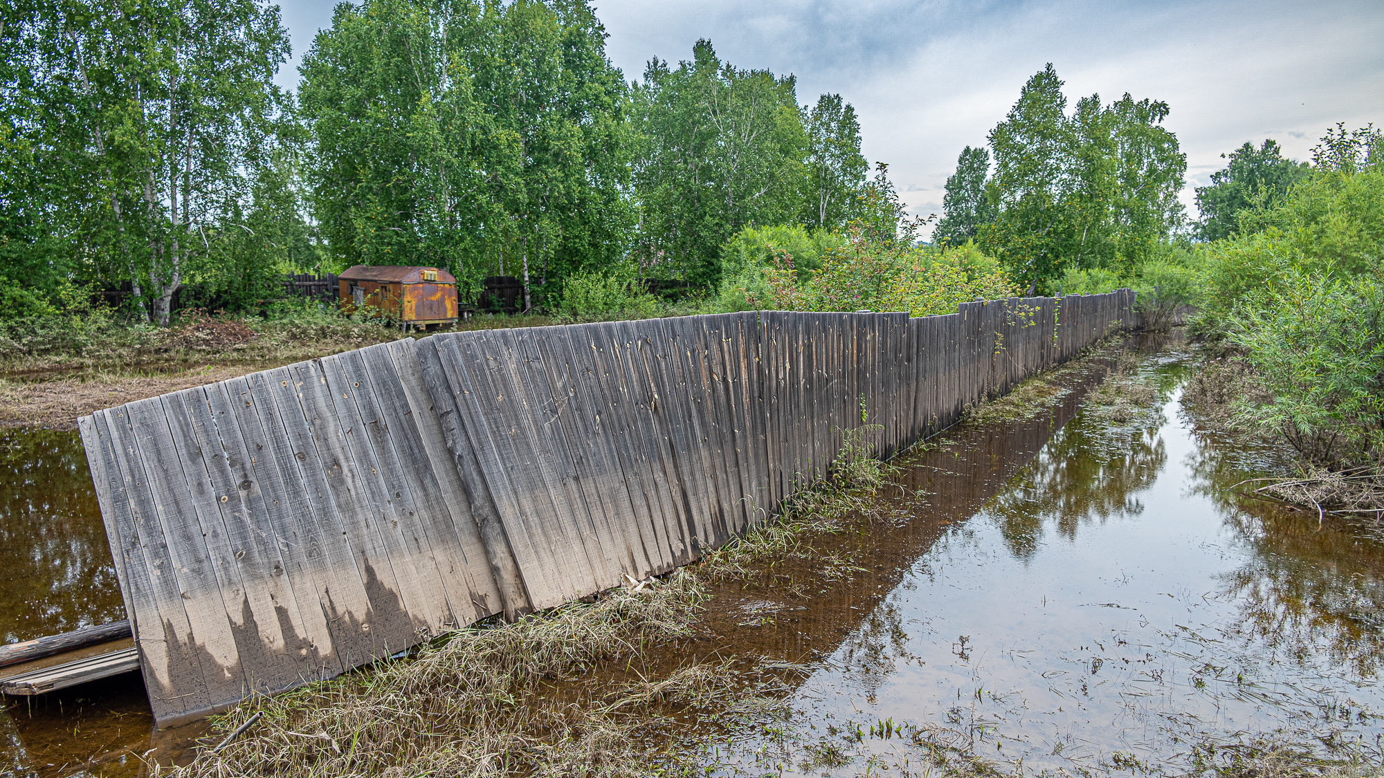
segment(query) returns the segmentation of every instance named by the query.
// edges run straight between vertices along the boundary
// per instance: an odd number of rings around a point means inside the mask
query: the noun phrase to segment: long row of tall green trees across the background
[[[572,299],[603,280],[713,298],[778,282],[745,264],[746,234],[810,234],[826,259],[754,249],[803,282],[848,245],[925,234],[841,96],[800,104],[792,75],[707,40],[627,80],[605,39],[587,0],[364,0],[336,8],[291,93],[274,84],[277,6],[4,4],[0,310],[127,284],[127,313],[166,324],[184,285],[246,310],[282,296],[285,273],[357,263],[446,267],[472,298],[516,277],[520,309],[561,306],[572,278],[587,284]],[[1049,65],[988,147],[962,152],[934,242],[973,241],[965,256],[1020,291],[1056,292],[1071,269],[1128,275],[1186,234],[1168,111],[1125,94],[1068,112]],[[1205,201],[1217,219],[1233,219],[1232,188]]]

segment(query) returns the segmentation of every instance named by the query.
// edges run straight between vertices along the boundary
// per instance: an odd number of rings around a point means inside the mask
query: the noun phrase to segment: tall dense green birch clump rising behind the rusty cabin
[[[354,264],[561,277],[631,227],[626,84],[581,1],[368,0],[303,61],[313,212]],[[502,263],[508,262],[508,267]]]

